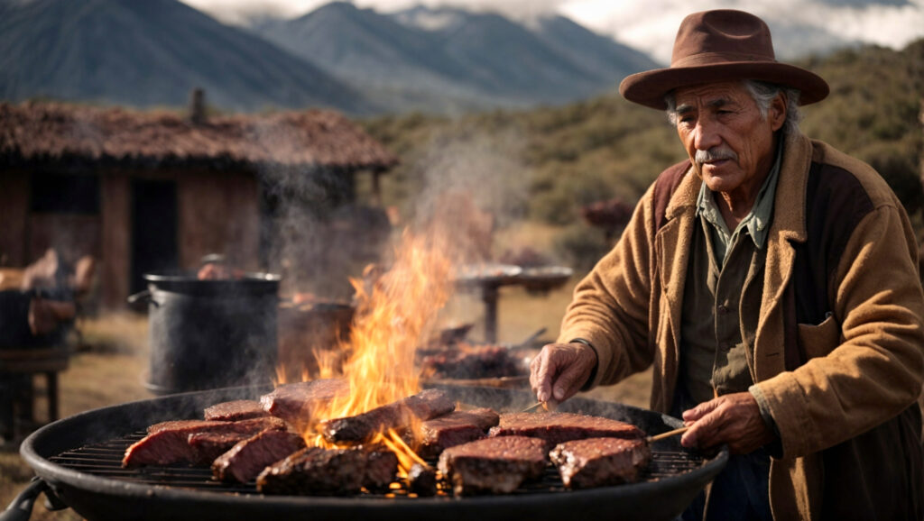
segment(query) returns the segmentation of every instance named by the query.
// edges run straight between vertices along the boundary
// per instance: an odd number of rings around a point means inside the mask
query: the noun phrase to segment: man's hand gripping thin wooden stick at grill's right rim
[[[685,447],[728,443],[732,454],[748,454],[775,439],[750,393],[725,394],[699,404],[684,411],[684,423],[690,426],[680,439]]]

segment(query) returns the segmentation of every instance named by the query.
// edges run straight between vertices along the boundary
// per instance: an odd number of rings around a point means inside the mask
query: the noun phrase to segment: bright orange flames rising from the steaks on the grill
[[[433,332],[440,310],[451,297],[452,262],[447,255],[451,249],[439,236],[405,231],[388,272],[367,270],[362,280],[350,281],[358,306],[349,338],[338,352],[318,352],[322,374],[317,375],[345,378],[350,393],[316,411],[315,419],[355,416],[419,392],[415,351]],[[342,363],[334,363],[343,355]],[[282,382],[285,371],[277,372]],[[304,436],[309,445],[327,445],[317,432]],[[394,431],[380,433],[376,442],[398,455],[405,472],[415,462],[423,463]]]

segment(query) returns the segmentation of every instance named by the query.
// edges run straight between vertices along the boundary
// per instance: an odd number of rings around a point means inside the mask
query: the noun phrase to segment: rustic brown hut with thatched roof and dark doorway
[[[353,202],[365,171],[374,198],[397,162],[331,111],[194,114],[0,103],[0,265],[93,255],[101,301],[118,306],[142,273],[206,254],[261,268],[287,191],[312,191],[298,197],[320,212]]]

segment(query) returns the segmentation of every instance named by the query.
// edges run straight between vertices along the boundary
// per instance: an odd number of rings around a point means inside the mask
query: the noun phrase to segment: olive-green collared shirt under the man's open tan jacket
[[[713,192],[705,184],[700,188],[701,233],[694,233],[691,244],[681,318],[680,374],[694,403],[745,392],[754,383],[748,359],[760,317],[764,247],[781,162],[782,143],[754,207],[734,232],[729,232]],[[763,396],[755,398],[760,405]]]

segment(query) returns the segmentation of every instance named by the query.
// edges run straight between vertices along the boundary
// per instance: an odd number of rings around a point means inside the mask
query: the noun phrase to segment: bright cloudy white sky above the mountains
[[[254,15],[294,18],[329,0],[182,0],[227,23]],[[808,28],[821,27],[846,41],[894,49],[924,37],[924,0],[353,0],[359,7],[388,13],[415,5],[462,6],[502,11],[512,18],[557,13],[670,63],[677,27],[687,14],[736,8]],[[779,48],[779,45],[777,45]],[[779,51],[778,51],[779,52]]]

